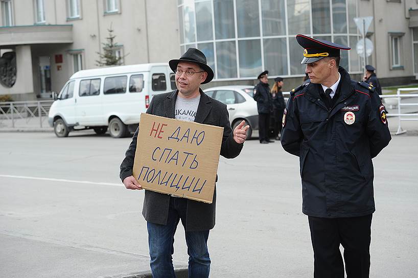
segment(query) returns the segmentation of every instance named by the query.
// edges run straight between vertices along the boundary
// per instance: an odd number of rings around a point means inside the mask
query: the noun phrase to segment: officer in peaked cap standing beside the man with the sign
[[[367,83],[339,66],[349,47],[297,35],[311,83],[292,90],[283,116],[283,148],[299,156],[314,277],[364,278],[370,268],[375,211],[371,158],[389,144],[385,107]]]

